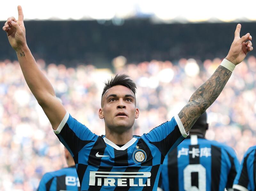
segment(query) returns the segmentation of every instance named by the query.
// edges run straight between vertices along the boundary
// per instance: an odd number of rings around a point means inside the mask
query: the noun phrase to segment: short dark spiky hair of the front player
[[[131,77],[128,76],[127,74],[116,74],[115,77],[112,77],[111,79],[108,79],[105,82],[105,86],[103,88],[101,97],[103,97],[103,95],[106,93],[106,91],[109,88],[112,88],[113,86],[117,86],[117,85],[121,85],[129,88],[130,90],[132,90],[135,96],[137,87],[135,82],[132,81]]]

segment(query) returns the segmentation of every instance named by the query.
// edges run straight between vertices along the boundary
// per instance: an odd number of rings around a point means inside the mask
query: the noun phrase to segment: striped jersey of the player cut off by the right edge
[[[255,191],[256,185],[256,146],[250,147],[244,154],[241,167],[237,172],[233,188],[235,190]]]

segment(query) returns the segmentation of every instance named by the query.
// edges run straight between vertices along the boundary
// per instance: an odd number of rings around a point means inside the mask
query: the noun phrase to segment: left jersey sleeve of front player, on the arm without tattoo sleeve
[[[93,134],[86,126],[78,122],[68,112],[61,121],[57,130],[53,130],[60,142],[68,149],[74,157],[88,143],[97,140],[97,135]]]

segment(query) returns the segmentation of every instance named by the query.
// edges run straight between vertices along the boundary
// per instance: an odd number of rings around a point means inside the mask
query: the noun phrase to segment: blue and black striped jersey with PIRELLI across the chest
[[[74,158],[81,190],[156,190],[165,155],[187,136],[178,115],[119,147],[68,113],[55,134]]]

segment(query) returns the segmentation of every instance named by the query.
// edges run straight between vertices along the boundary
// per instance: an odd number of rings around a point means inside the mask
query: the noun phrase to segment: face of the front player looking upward
[[[127,87],[118,85],[109,88],[102,97],[99,117],[104,118],[106,128],[116,132],[125,132],[139,117],[139,109],[135,106],[135,95]]]

